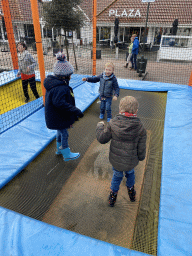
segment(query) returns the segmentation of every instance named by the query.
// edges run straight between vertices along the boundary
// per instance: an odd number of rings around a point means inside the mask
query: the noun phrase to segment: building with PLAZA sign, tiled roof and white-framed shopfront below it
[[[162,35],[171,34],[175,19],[177,35],[191,36],[191,17],[192,0],[155,0],[150,4],[142,0],[113,1],[97,15],[98,41],[114,40],[117,18],[119,42],[129,43],[131,35],[137,34],[140,42],[158,45]]]

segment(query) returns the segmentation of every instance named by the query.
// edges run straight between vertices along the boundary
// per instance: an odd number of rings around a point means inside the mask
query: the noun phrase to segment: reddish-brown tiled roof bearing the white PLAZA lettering
[[[114,22],[115,14],[120,23],[145,23],[148,3],[141,0],[115,0],[99,15],[99,22]],[[139,17],[140,13],[140,17]],[[149,5],[149,24],[192,24],[192,0],[156,0]]]

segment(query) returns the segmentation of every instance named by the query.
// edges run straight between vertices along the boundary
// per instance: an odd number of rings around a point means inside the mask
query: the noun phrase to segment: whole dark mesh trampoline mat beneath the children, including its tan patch
[[[112,167],[108,161],[109,144],[101,145],[95,139],[100,121],[99,104],[95,101],[69,130],[71,151],[80,152],[81,157],[64,162],[62,156],[55,155],[54,140],[1,189],[0,205],[83,235],[155,255],[167,94],[121,89],[120,97],[112,103],[113,115],[118,113],[119,101],[126,95],[138,99],[138,117],[148,132],[147,157],[136,167],[136,202],[129,201],[123,180],[115,207],[108,206]]]

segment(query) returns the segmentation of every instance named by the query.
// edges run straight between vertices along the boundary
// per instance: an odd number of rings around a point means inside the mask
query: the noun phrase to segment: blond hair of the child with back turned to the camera
[[[139,102],[133,96],[125,96],[120,100],[119,112],[128,112],[130,114],[135,114],[138,110]]]

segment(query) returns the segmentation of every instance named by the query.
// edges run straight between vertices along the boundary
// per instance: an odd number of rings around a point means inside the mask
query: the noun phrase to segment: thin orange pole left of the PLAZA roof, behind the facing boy
[[[96,35],[97,35],[97,0],[93,0],[93,76],[96,75]]]

